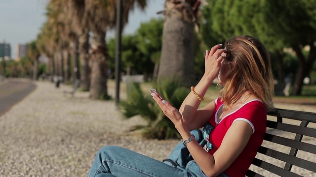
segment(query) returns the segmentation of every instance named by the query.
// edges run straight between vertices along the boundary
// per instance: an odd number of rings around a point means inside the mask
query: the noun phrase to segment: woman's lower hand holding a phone
[[[182,115],[175,107],[166,100],[161,100],[156,93],[151,93],[151,95],[162,110],[163,114],[168,117],[176,127],[182,123]]]

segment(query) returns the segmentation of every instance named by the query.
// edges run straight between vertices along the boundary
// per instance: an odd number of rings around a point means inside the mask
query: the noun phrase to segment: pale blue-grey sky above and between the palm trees
[[[0,43],[10,44],[12,59],[15,58],[16,44],[26,44],[36,40],[46,21],[45,8],[48,1],[0,0]],[[141,23],[149,22],[152,18],[162,17],[157,12],[163,10],[164,1],[147,0],[148,4],[144,11],[134,9],[130,12],[123,34],[132,34]],[[115,30],[109,31],[107,35],[114,36]]]

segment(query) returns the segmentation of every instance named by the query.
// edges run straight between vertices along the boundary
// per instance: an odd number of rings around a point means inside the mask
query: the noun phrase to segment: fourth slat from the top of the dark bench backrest
[[[305,159],[301,159],[298,157],[294,157],[288,154],[285,154],[283,152],[279,152],[270,148],[260,147],[258,152],[268,155],[270,157],[276,158],[278,160],[281,160],[283,162],[287,162],[290,164],[293,164],[297,167],[304,168],[306,170],[316,172],[316,163],[307,161]]]

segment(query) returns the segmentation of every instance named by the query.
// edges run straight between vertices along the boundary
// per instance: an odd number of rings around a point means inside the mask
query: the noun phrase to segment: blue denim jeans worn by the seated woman
[[[198,138],[197,132],[192,133]],[[178,164],[173,167],[167,161],[163,163],[125,148],[106,146],[98,151],[88,177],[206,177],[186,151],[181,142],[176,146],[168,157]],[[218,177],[228,176],[222,173]]]

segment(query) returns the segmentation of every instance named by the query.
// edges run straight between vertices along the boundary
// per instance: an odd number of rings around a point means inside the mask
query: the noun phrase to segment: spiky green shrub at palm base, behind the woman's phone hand
[[[177,109],[190,91],[178,79],[158,81],[153,84],[153,88]],[[126,91],[127,99],[119,103],[123,116],[131,118],[140,115],[148,123],[145,126],[135,126],[134,130],[142,129],[142,135],[148,139],[180,138],[171,120],[163,114],[152,96],[143,92],[138,83],[129,83]]]

